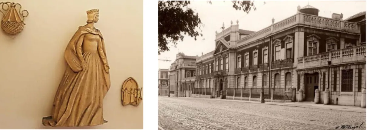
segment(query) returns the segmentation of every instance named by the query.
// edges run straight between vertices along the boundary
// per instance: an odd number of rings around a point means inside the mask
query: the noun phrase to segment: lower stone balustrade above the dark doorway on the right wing
[[[299,57],[297,69],[366,61],[366,45]]]

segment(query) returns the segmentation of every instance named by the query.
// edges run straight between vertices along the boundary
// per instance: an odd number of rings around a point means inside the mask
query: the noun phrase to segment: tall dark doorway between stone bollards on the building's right
[[[319,73],[305,74],[306,101],[315,100],[316,89],[319,89]]]

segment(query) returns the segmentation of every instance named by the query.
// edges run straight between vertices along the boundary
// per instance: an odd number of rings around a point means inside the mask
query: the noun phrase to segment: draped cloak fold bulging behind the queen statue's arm
[[[84,27],[79,27],[79,29],[76,31],[76,33],[73,35],[73,37],[70,39],[68,46],[65,49],[65,60],[66,63],[68,63],[68,66],[75,72],[79,72],[83,70],[81,67],[81,61],[83,59],[83,55],[78,54],[77,52],[77,46],[83,44],[83,40],[80,40],[80,38],[84,37],[84,34],[88,33]],[[79,51],[79,50],[78,50]],[[81,51],[81,48],[80,48]],[[81,59],[80,59],[81,58]]]

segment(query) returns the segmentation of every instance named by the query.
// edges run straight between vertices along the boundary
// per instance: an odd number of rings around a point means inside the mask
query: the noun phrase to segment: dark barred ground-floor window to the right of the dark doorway
[[[342,70],[341,92],[353,92],[353,69]]]

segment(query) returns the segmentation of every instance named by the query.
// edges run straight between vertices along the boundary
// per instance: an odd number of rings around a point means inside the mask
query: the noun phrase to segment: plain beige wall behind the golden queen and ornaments
[[[123,107],[120,100],[121,85],[128,77],[143,87],[142,0],[9,1],[20,3],[29,16],[18,36],[0,32],[0,129],[49,128],[41,120],[51,114],[66,68],[65,47],[78,27],[86,24],[86,11],[94,8],[100,10],[95,26],[105,38],[111,88],[103,104],[108,123],[86,128],[143,128],[143,103]]]

